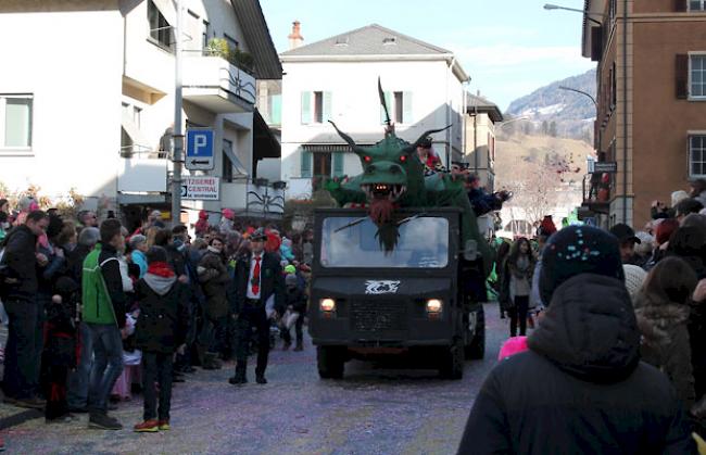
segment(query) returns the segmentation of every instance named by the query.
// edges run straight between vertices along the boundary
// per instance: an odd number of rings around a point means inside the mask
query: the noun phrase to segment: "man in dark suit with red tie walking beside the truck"
[[[231,281],[229,300],[231,315],[236,318],[236,376],[231,384],[248,382],[248,350],[253,328],[257,331],[256,381],[267,383],[265,369],[269,355],[269,319],[276,317],[275,309],[285,306],[285,279],[279,260],[266,253],[267,236],[260,228],[250,237],[250,253],[236,264],[236,279]],[[269,314],[268,314],[269,313]]]

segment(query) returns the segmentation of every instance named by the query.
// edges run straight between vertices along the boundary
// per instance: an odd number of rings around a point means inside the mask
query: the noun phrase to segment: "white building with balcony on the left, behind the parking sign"
[[[191,174],[220,179],[218,201],[184,202],[182,219],[193,222],[201,208],[247,208],[256,75],[277,78],[281,66],[257,1],[181,3],[182,128],[215,134],[215,168]],[[169,0],[2,2],[0,111],[11,140],[0,142],[0,181],[37,185],[51,199],[73,188],[88,207],[108,200],[128,220],[168,211],[176,21]],[[228,59],[204,51],[214,38]]]

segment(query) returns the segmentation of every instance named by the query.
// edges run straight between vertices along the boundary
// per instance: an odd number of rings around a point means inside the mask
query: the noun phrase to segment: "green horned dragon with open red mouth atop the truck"
[[[378,226],[378,238],[386,251],[394,249],[396,243],[400,223],[394,216],[396,207],[461,208],[463,244],[470,245],[467,249],[475,250],[475,255],[479,257],[472,262],[479,265],[478,268],[482,270],[483,276],[488,276],[492,268],[492,252],[486,238],[480,235],[463,181],[445,173],[425,176],[425,165],[417,154],[417,147],[427,136],[443,131],[450,126],[425,131],[415,142],[409,143],[394,132],[379,81],[378,92],[387,115],[388,128],[384,139],[373,147],[362,147],[330,122],[361,160],[363,174],[350,179],[329,180],[325,189],[341,207],[351,204],[368,207],[369,216]],[[470,253],[470,257],[472,256],[474,253]]]

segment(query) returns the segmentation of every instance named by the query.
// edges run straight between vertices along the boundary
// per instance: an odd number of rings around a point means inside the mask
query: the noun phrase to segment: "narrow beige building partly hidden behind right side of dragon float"
[[[492,192],[495,188],[495,127],[503,121],[503,114],[494,103],[470,93],[466,93],[466,113],[464,163]]]

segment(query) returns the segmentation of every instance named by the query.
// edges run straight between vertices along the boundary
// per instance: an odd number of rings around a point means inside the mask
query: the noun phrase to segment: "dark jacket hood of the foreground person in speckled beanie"
[[[579,379],[625,380],[640,362],[640,331],[625,285],[590,274],[569,279],[554,292],[528,344]]]

